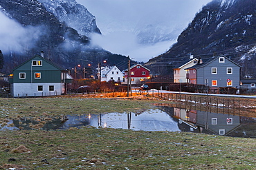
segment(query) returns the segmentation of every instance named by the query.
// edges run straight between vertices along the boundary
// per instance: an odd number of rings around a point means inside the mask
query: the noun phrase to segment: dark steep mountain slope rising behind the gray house
[[[242,66],[242,76],[256,77],[256,3],[213,0],[204,6],[170,50],[149,60],[153,74],[172,75],[172,68],[190,56],[208,59],[223,54]]]

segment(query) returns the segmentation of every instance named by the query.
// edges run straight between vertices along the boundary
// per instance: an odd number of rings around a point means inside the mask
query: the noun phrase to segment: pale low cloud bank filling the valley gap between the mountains
[[[170,49],[175,41],[162,41],[155,44],[143,45],[138,42],[137,36],[131,32],[112,32],[107,35],[92,34],[91,45],[100,46],[114,54],[130,56],[135,61],[148,61]]]

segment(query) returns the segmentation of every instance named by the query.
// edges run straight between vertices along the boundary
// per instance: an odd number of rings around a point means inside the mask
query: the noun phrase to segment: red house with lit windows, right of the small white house
[[[130,68],[131,84],[141,84],[149,79],[150,70],[143,65],[136,64]],[[125,80],[123,84],[127,84],[128,70],[125,70]]]

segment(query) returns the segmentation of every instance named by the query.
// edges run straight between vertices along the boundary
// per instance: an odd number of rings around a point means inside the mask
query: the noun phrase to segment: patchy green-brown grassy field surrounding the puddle
[[[0,98],[8,118],[140,112],[154,100]],[[165,101],[165,103],[168,103]],[[0,169],[255,169],[256,140],[167,131],[82,127],[0,131]]]

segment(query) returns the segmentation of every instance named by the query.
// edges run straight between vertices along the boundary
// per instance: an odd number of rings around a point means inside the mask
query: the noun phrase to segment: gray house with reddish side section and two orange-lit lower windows
[[[186,78],[189,83],[197,85],[239,88],[240,70],[241,66],[226,56],[213,56],[199,59],[198,64],[186,70]]]

